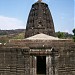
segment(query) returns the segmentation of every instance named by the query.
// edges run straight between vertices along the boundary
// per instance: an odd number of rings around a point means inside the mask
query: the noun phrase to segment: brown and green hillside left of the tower
[[[0,43],[6,43],[9,39],[23,39],[25,29],[0,30]]]

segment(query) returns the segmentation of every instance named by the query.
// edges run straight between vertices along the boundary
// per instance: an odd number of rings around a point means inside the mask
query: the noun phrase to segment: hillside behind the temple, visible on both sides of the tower
[[[72,39],[73,35],[66,33],[66,32],[60,32],[63,33],[63,39]],[[59,32],[55,33],[55,36],[58,37]],[[25,29],[16,29],[16,30],[0,30],[0,43],[6,43],[9,41],[9,39],[24,39],[25,36]]]

